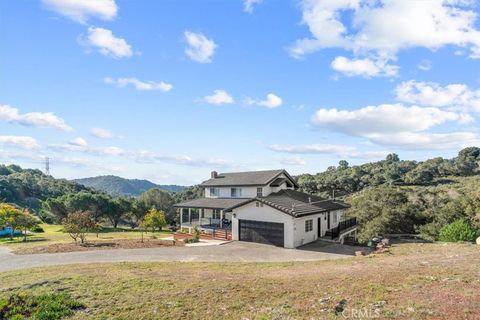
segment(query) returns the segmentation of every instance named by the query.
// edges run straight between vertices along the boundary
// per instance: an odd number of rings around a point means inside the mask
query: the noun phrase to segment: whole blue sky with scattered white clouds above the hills
[[[194,184],[480,145],[474,1],[0,1],[0,161]]]

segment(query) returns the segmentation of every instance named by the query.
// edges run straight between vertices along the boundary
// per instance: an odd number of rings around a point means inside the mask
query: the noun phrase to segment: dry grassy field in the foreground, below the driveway
[[[0,274],[0,298],[68,293],[86,306],[74,319],[478,319],[479,266],[479,246],[437,243],[322,262],[72,265]]]

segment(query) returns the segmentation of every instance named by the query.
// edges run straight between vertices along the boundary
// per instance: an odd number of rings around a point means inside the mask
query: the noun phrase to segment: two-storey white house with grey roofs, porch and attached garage
[[[296,248],[319,238],[340,241],[356,236],[349,206],[297,191],[285,170],[218,174],[200,185],[205,197],[175,205],[184,231],[229,234],[233,240]]]

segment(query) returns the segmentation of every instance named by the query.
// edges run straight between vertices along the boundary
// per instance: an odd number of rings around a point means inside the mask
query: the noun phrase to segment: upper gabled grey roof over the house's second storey
[[[209,179],[200,184],[201,187],[227,187],[227,186],[260,186],[267,185],[279,175],[284,174],[298,188],[297,182],[287,171],[266,170],[266,171],[248,171],[248,172],[229,172],[220,173],[216,178]]]

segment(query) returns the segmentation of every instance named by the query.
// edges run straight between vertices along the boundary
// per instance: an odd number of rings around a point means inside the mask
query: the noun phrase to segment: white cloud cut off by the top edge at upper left
[[[50,10],[82,24],[90,17],[113,20],[118,11],[114,0],[42,0],[42,2]]]

